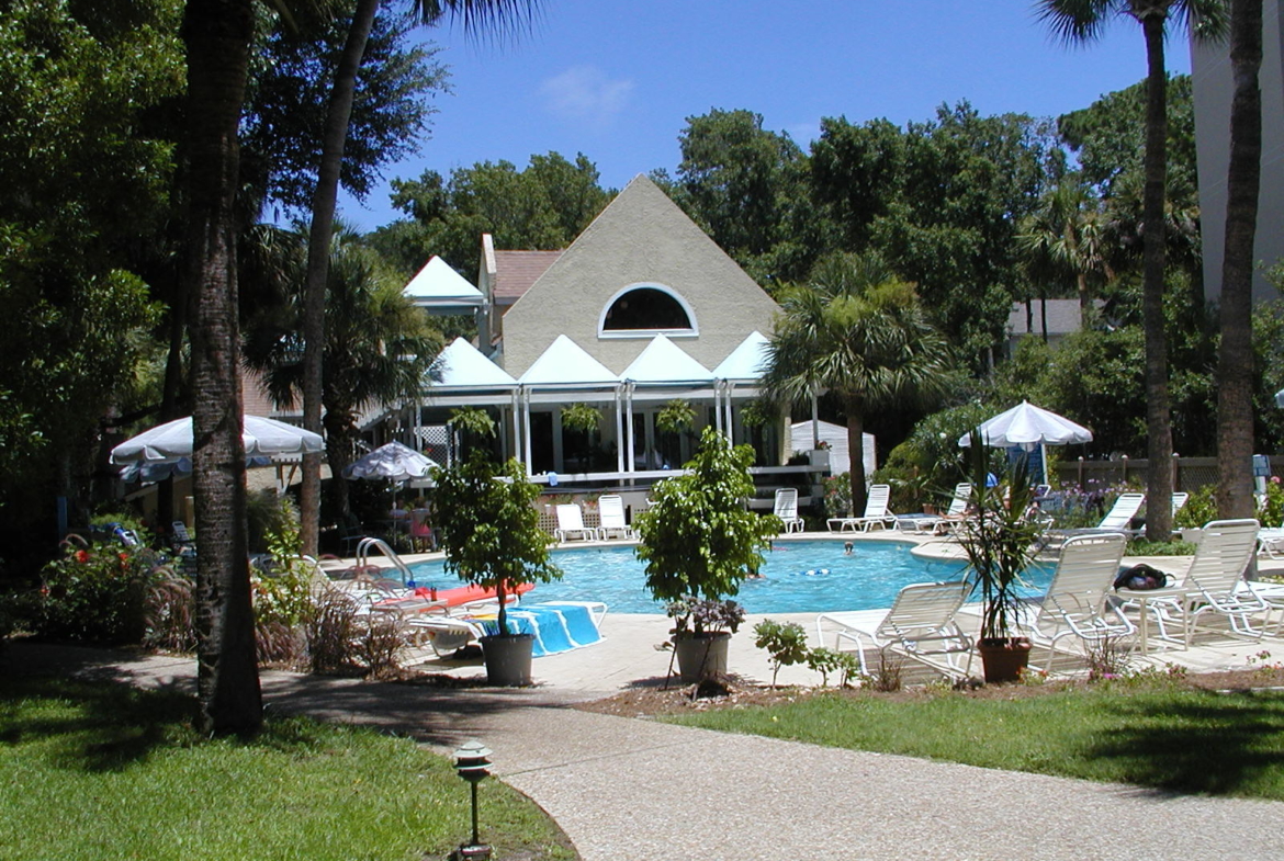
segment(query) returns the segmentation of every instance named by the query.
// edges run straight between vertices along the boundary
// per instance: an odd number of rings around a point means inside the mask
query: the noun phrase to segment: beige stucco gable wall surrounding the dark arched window
[[[521,376],[557,335],[619,373],[650,337],[598,337],[621,287],[660,284],[691,307],[698,335],[673,341],[713,370],[778,307],[645,176],[636,177],[503,317],[503,367]]]

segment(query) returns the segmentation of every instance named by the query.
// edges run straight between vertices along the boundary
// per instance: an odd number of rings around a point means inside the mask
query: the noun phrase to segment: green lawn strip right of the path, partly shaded
[[[828,692],[665,720],[991,769],[1284,801],[1284,693],[1278,690],[1219,694],[1163,680],[1121,680],[1011,699]]]

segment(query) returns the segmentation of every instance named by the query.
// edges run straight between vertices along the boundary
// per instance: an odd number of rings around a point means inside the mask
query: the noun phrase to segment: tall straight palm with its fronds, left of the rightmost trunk
[[[1172,495],[1172,417],[1168,400],[1168,346],[1163,331],[1165,218],[1168,133],[1167,71],[1163,37],[1168,22],[1194,31],[1197,38],[1217,37],[1226,26],[1226,0],[1035,0],[1039,17],[1067,42],[1090,42],[1111,17],[1132,18],[1145,37],[1145,190],[1143,194],[1141,325],[1145,330],[1145,412],[1149,471],[1147,495]],[[1172,534],[1172,511],[1152,506],[1145,524],[1150,540]]]

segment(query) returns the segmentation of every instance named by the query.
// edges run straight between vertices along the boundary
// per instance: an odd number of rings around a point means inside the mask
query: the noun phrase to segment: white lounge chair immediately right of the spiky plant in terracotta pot
[[[1044,670],[1052,671],[1062,638],[1077,636],[1088,645],[1136,633],[1122,611],[1106,601],[1126,547],[1127,536],[1118,533],[1076,535],[1062,544],[1048,593],[1039,599],[1031,622],[1022,626],[1035,643],[1048,647]]]

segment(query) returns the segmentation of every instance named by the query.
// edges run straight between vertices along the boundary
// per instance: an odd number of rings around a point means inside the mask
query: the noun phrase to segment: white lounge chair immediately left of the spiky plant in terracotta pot
[[[820,613],[815,618],[817,635],[822,644],[832,636],[835,651],[847,643],[854,645],[863,675],[869,672],[864,654],[868,644],[877,649],[899,647],[907,657],[948,676],[966,678],[972,667],[972,638],[954,615],[969,592],[971,584],[963,580],[914,583],[896,593],[882,620],[869,621],[868,612]],[[962,665],[960,656],[967,656]],[[944,663],[935,658],[944,658]]]

